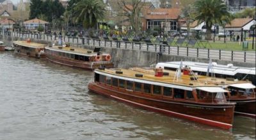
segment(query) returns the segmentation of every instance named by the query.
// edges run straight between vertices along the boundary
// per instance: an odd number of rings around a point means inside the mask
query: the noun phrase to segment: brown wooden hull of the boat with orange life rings
[[[72,59],[64,59],[61,57],[55,57],[52,55],[49,55],[46,53],[46,59],[50,60],[51,62],[57,63],[57,64],[62,64],[65,66],[70,66],[70,67],[79,67],[82,69],[97,69],[99,67],[107,67],[107,68],[112,68],[114,67],[113,62],[110,61],[104,61],[104,62],[85,62],[85,61],[79,61],[79,60],[72,60]]]

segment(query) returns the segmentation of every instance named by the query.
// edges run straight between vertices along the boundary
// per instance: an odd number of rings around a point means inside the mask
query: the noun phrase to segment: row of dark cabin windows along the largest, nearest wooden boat
[[[95,81],[106,83],[106,85],[111,85],[113,87],[125,88],[126,90],[131,90],[134,92],[143,92],[145,94],[164,95],[167,97],[174,97],[175,99],[194,98],[192,92],[188,90],[170,87],[163,87],[162,90],[162,86],[159,85],[151,85],[147,83],[111,78],[97,73],[95,73]],[[173,95],[173,93],[175,94]]]

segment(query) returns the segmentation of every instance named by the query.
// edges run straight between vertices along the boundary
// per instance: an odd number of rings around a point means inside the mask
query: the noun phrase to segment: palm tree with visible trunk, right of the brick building
[[[195,19],[198,23],[205,22],[206,38],[211,39],[212,25],[230,24],[231,14],[222,0],[198,0],[195,2]],[[225,20],[223,20],[226,17]]]

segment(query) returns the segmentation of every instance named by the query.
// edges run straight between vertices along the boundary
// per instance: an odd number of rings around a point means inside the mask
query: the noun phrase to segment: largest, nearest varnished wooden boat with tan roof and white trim
[[[151,70],[150,70],[151,71]],[[150,111],[185,118],[223,129],[231,129],[234,102],[225,98],[227,90],[200,83],[190,76],[174,76],[147,69],[95,69],[89,90]]]

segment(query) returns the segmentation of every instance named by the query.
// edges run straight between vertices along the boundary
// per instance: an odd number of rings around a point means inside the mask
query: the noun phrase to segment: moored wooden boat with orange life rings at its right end
[[[111,56],[108,53],[84,48],[75,48],[68,45],[45,47],[46,59],[65,66],[82,69],[95,69],[98,67],[113,67]]]

